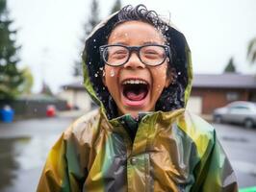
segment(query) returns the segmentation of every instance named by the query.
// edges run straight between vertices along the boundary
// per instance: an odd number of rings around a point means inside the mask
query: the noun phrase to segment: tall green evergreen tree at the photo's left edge
[[[18,70],[15,45],[16,30],[12,29],[13,20],[9,18],[7,1],[0,0],[0,100],[12,100],[22,92],[24,81],[22,71]]]

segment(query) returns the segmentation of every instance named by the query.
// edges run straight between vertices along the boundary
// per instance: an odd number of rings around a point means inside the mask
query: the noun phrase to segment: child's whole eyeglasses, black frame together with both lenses
[[[102,45],[99,49],[101,58],[106,64],[111,66],[125,64],[130,59],[132,52],[136,52],[141,62],[149,66],[157,66],[164,63],[166,57],[170,55],[168,46],[158,44],[142,46],[112,44]]]

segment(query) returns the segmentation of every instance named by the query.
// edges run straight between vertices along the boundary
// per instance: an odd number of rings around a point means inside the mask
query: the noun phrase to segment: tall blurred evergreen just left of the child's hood
[[[92,0],[90,4],[90,17],[87,23],[84,26],[85,36],[82,39],[82,43],[85,42],[85,39],[87,36],[90,35],[90,32],[92,29],[99,23],[99,4],[97,0]],[[83,67],[82,67],[82,59],[75,61],[74,64],[74,72],[73,75],[75,77],[77,76],[83,76]]]

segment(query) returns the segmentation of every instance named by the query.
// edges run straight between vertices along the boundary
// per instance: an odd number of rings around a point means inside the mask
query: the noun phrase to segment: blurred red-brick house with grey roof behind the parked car
[[[211,114],[233,101],[256,102],[256,77],[236,73],[196,74],[188,108],[199,114]]]

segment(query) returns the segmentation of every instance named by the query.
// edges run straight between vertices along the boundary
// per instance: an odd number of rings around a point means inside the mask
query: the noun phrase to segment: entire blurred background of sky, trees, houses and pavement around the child
[[[256,191],[255,0],[0,0],[0,191],[36,190],[51,146],[95,107],[83,86],[85,39],[141,3],[187,37],[188,108],[216,127],[241,191]]]

